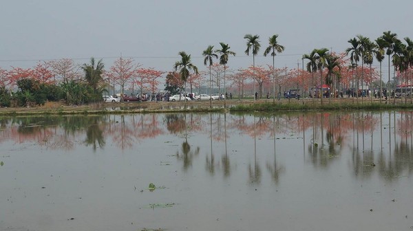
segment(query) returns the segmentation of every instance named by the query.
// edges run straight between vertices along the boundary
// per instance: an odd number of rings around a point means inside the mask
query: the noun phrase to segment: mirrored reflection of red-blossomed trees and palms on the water
[[[328,169],[349,158],[355,177],[379,173],[386,181],[410,176],[413,169],[412,111],[350,113],[166,113],[1,118],[0,142],[34,143],[50,150],[119,151],[169,137],[182,139],[174,153],[187,171],[204,153],[205,169],[231,177],[246,164],[248,182],[261,184],[262,166],[275,184],[286,170],[288,155],[304,164]],[[216,158],[215,155],[220,155]],[[248,160],[239,160],[245,155]],[[244,156],[243,156],[244,157]]]

